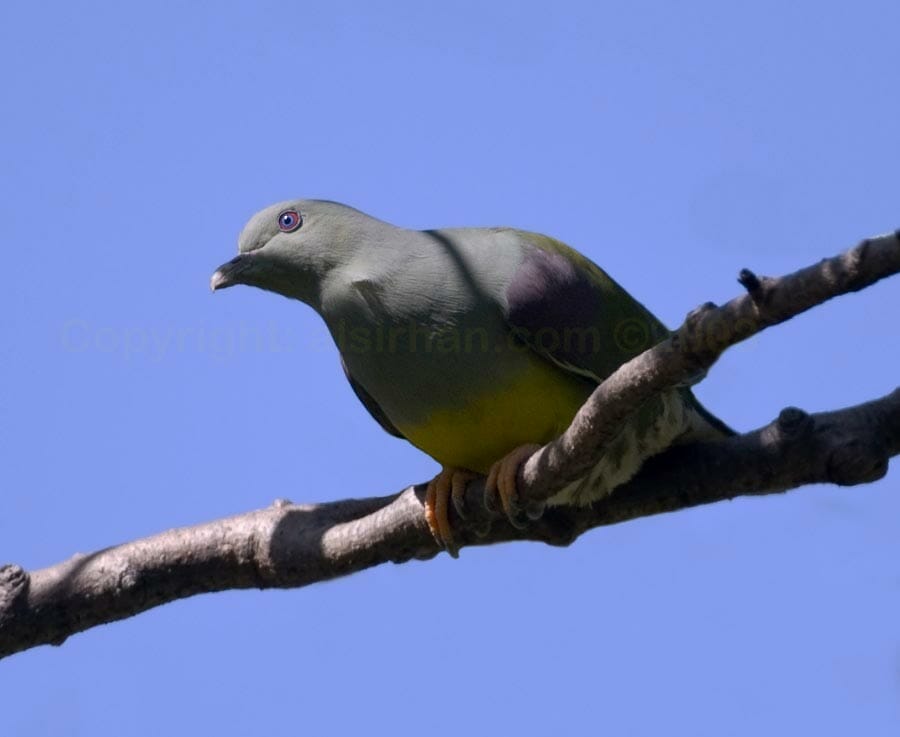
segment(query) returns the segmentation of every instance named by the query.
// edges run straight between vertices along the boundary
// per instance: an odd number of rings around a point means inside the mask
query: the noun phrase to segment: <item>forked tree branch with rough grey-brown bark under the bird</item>
[[[900,234],[777,279],[741,272],[747,293],[704,305],[675,335],[622,366],[597,388],[556,441],[520,471],[521,502],[540,502],[590,467],[623,419],[655,392],[709,368],[728,346],[811,307],[900,271]],[[872,402],[808,415],[789,408],[766,427],[728,440],[672,448],[591,507],[550,508],[520,530],[466,494],[458,543],[535,540],[567,545],[585,530],[744,494],[805,484],[866,483],[900,453],[900,389]],[[305,586],[388,561],[430,558],[439,548],[422,512],[424,485],[399,494],[271,507],[169,530],[38,571],[0,567],[0,657],[61,644],[89,627],[193,594]]]

